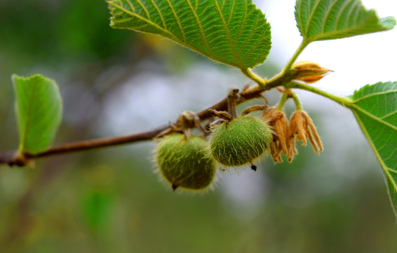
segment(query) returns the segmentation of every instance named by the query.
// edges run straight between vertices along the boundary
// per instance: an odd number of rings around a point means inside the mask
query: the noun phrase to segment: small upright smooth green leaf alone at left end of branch
[[[15,115],[19,130],[19,153],[46,150],[62,119],[62,98],[56,82],[36,74],[12,75]]]

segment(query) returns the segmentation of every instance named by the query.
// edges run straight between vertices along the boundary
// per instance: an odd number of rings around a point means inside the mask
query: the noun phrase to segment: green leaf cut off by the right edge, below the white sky
[[[353,113],[382,165],[397,215],[397,82],[366,85],[353,95]]]

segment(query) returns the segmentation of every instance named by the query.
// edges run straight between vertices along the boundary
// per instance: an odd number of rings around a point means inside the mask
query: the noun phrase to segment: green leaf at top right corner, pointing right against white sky
[[[360,0],[297,0],[295,19],[307,42],[376,33],[396,25],[394,17],[379,19]]]

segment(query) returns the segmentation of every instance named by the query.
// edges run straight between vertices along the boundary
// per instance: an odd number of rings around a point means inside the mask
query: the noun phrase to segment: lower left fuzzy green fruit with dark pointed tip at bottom
[[[174,190],[200,190],[211,184],[216,162],[208,146],[202,138],[191,136],[186,140],[184,134],[170,134],[161,140],[156,149],[157,165]]]

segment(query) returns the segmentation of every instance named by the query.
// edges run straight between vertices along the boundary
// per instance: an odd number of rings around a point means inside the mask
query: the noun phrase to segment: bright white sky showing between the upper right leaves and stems
[[[286,63],[302,37],[294,17],[295,0],[254,0],[272,26],[272,52],[268,59]],[[362,0],[379,17],[397,17],[397,0]],[[339,96],[353,94],[365,84],[397,81],[397,29],[382,33],[319,41],[310,44],[297,61],[310,60],[332,69],[315,86]]]

